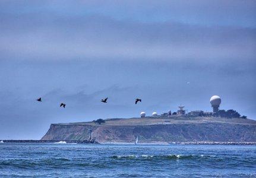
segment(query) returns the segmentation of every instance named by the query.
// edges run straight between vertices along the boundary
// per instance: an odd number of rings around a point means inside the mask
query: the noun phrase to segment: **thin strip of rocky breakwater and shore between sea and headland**
[[[1,140],[0,140],[1,141]],[[90,142],[75,140],[2,140],[2,143],[33,143],[47,144],[65,141],[67,144],[134,144],[133,142]],[[138,145],[158,144],[158,145],[256,145],[256,142],[138,142]]]

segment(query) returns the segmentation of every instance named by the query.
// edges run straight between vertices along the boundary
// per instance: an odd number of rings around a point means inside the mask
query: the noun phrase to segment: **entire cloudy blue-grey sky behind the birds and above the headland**
[[[0,31],[0,139],[213,95],[256,120],[256,1],[4,0]]]

